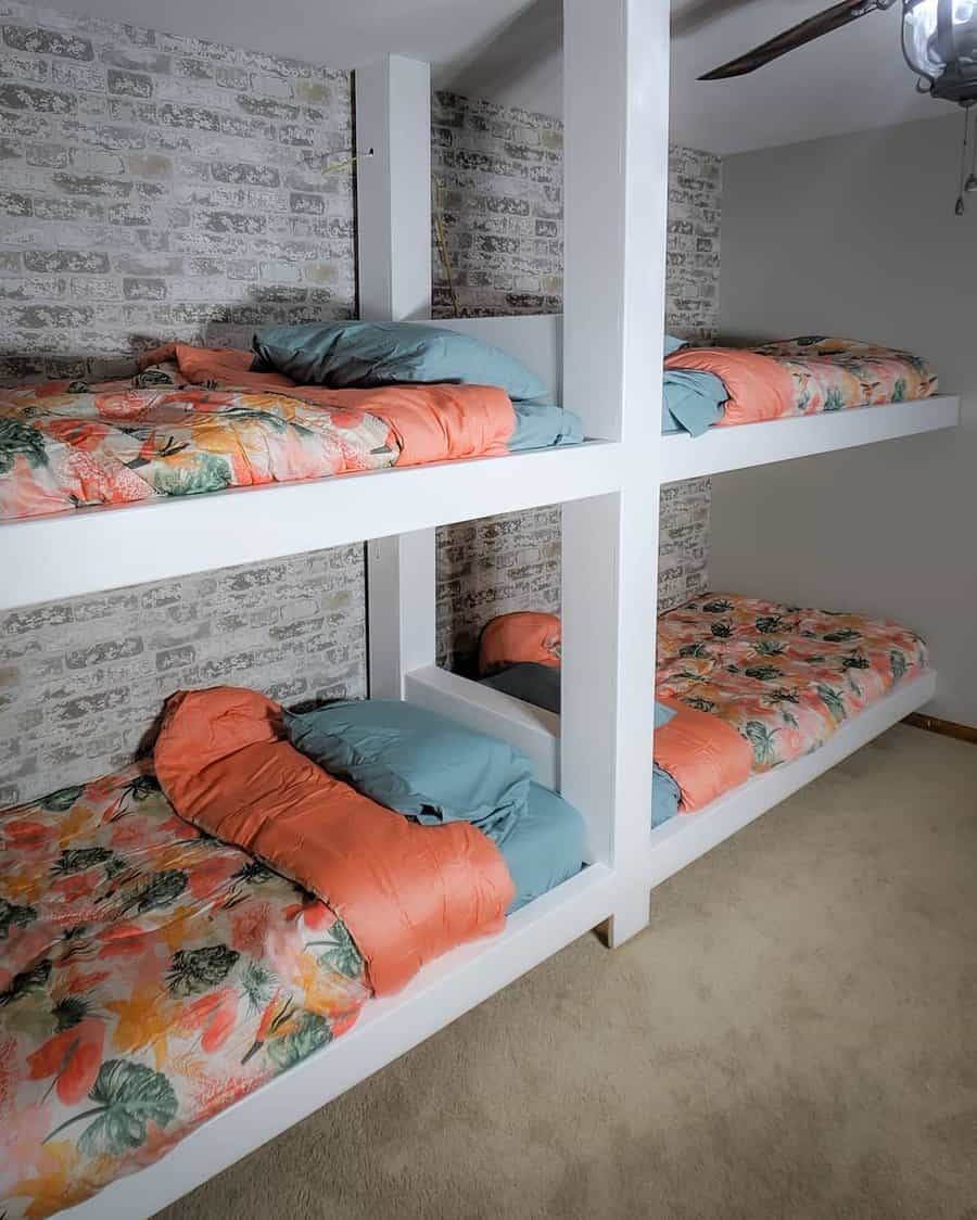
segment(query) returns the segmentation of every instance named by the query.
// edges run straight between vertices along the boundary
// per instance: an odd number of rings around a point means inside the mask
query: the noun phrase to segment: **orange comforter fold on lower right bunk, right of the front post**
[[[703,809],[749,780],[753,749],[732,725],[684,703],[659,702],[675,716],[655,730],[655,762],[678,784],[683,813]]]

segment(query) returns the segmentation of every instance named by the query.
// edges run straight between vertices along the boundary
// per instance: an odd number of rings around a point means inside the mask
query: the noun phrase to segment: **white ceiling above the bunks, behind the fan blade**
[[[546,113],[561,109],[561,0],[56,2],[68,11],[338,67],[396,51],[428,60],[442,88]],[[731,154],[950,112],[914,90],[899,46],[900,5],[753,76],[696,82],[701,72],[827,4],[673,0],[672,139]]]

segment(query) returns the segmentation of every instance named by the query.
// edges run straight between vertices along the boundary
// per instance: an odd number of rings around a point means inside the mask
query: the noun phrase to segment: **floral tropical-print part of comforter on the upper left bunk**
[[[0,520],[377,470],[398,455],[367,411],[193,386],[176,362],[102,386],[0,389]]]

